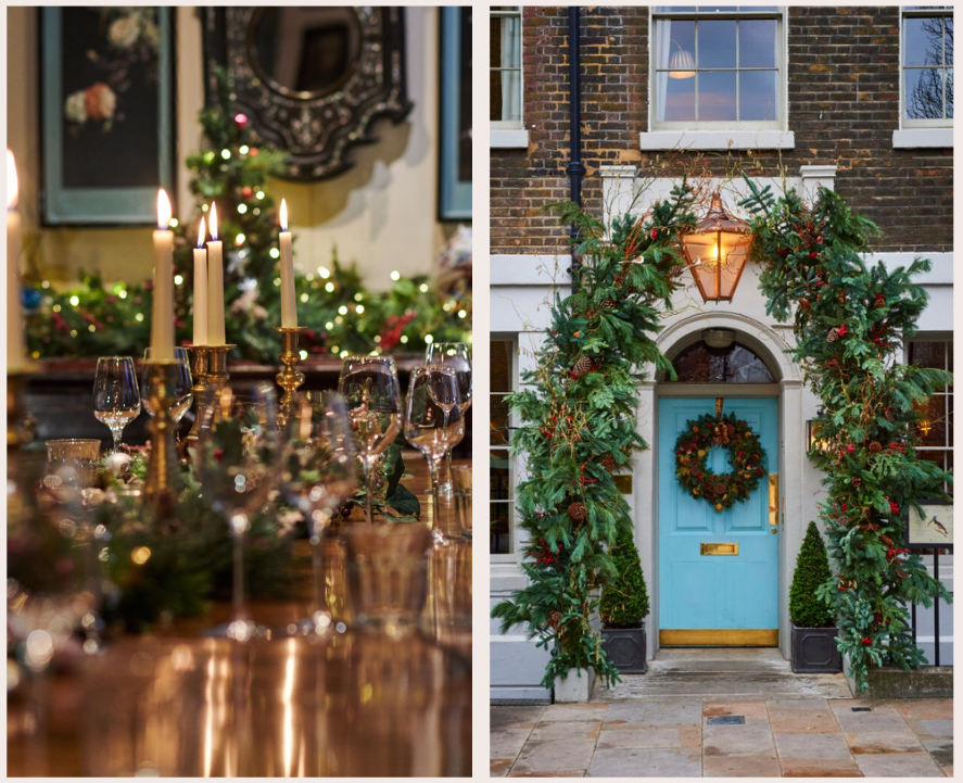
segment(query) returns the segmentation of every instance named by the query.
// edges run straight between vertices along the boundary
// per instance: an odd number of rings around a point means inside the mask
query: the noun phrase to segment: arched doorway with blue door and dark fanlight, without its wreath
[[[656,526],[660,646],[777,646],[780,634],[780,368],[758,338],[700,329],[667,352],[676,377],[657,383]],[[764,475],[722,510],[693,497],[675,475],[675,444],[695,419],[735,414],[759,439]],[[710,447],[707,466],[732,468]]]

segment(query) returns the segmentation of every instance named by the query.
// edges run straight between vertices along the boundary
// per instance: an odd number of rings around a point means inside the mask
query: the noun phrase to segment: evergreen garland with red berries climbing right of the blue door
[[[818,455],[828,490],[820,518],[837,573],[820,596],[834,608],[839,648],[864,690],[870,667],[925,662],[910,606],[950,599],[903,532],[907,513],[921,498],[947,496],[952,480],[916,456],[918,408],[952,378],[896,355],[926,306],[913,278],[929,262],[867,267],[861,254],[878,229],[840,195],[821,189],[809,206],[795,191],[774,199],[769,186],[747,182],[768,311],[794,319],[794,355],[823,404],[816,426],[831,446]]]

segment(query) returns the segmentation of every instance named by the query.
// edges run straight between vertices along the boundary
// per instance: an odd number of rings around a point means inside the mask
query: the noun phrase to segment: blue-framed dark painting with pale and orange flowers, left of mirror
[[[174,185],[173,9],[41,8],[45,225],[156,223]]]

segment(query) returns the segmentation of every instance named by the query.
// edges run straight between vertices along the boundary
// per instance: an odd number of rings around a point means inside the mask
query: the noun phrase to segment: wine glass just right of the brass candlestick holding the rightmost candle
[[[365,466],[365,513],[371,523],[375,463],[402,430],[402,393],[394,359],[349,356],[341,368],[338,391],[347,401],[351,428]]]

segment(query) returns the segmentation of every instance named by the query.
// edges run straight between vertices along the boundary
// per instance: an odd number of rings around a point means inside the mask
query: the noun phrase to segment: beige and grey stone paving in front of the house
[[[743,722],[709,722],[725,717]],[[673,695],[492,707],[491,774],[952,778],[953,702]]]

